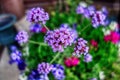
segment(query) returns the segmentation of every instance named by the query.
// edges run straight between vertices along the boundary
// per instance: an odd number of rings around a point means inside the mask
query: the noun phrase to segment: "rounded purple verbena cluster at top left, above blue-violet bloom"
[[[32,8],[27,13],[27,20],[30,22],[42,22],[43,24],[49,20],[49,15],[43,8]]]

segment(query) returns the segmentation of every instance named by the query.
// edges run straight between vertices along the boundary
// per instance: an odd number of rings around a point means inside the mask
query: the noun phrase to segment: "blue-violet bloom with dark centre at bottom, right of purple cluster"
[[[52,74],[55,77],[55,80],[64,80],[64,67],[60,64],[54,64],[52,68]]]

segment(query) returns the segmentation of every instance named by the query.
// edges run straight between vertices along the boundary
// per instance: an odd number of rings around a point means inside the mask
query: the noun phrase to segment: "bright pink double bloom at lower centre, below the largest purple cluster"
[[[67,67],[77,66],[79,64],[79,59],[77,57],[66,58],[64,63]]]

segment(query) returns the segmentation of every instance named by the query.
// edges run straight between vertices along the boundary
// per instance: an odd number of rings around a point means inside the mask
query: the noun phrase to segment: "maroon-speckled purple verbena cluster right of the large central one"
[[[89,47],[87,46],[87,41],[83,38],[79,38],[75,42],[74,55],[80,56],[81,54],[88,53]]]

